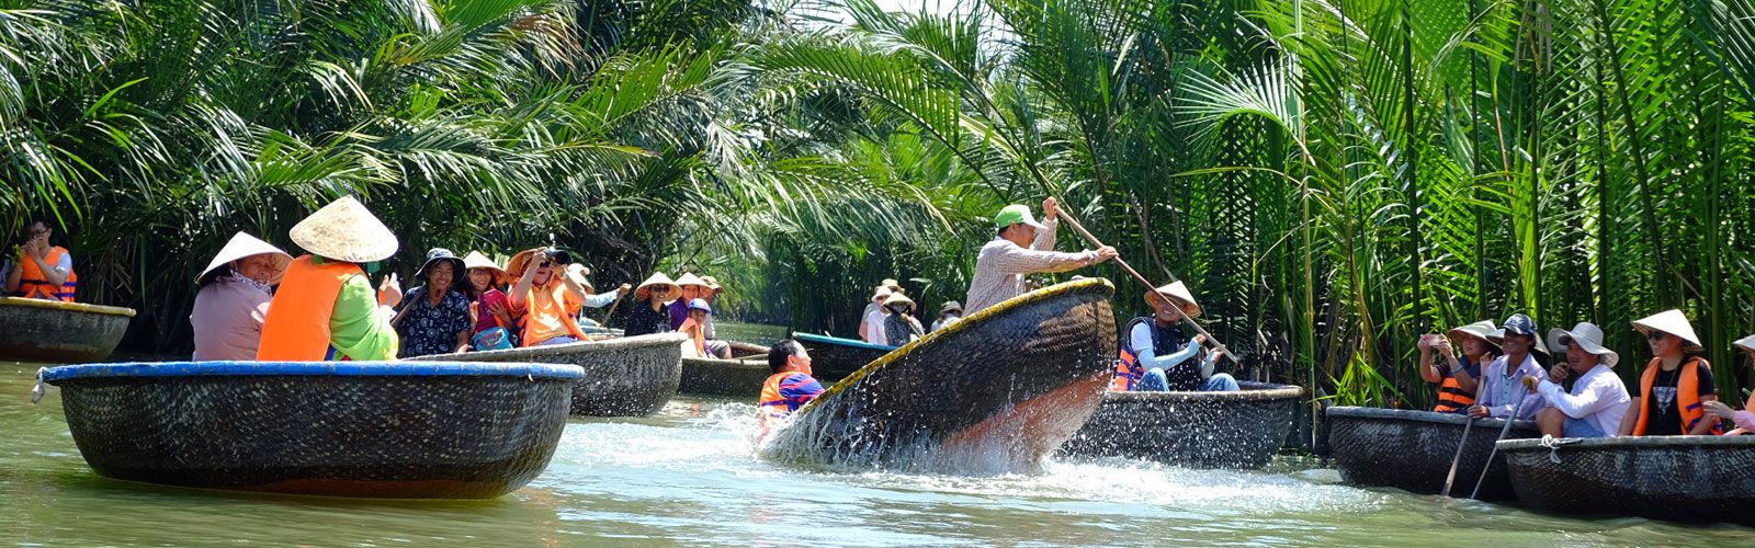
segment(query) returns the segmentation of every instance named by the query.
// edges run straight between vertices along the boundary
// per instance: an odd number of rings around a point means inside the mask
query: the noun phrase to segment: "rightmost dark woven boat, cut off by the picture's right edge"
[[[1530,509],[1755,525],[1755,436],[1509,439],[1499,455]]]

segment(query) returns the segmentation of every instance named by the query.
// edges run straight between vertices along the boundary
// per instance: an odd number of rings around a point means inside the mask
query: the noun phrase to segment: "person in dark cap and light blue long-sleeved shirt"
[[[1536,335],[1536,321],[1525,314],[1511,314],[1499,327],[1499,332],[1495,332],[1495,339],[1506,355],[1494,358],[1481,371],[1474,392],[1474,406],[1469,406],[1469,416],[1506,418],[1516,411],[1516,418],[1536,418],[1536,411],[1541,407],[1541,395],[1523,388],[1523,378],[1539,379],[1544,376],[1532,353],[1541,344],[1541,339]]]

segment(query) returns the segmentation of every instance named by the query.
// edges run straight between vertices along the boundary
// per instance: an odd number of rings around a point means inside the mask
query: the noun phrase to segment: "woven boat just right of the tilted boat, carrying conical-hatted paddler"
[[[1239,383],[1239,392],[1106,392],[1060,451],[1181,467],[1260,469],[1292,432],[1304,388]]]

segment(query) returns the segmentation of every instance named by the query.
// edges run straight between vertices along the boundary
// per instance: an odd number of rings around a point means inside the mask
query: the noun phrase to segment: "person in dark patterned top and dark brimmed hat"
[[[469,351],[476,321],[469,316],[470,286],[458,283],[463,260],[451,249],[426,251],[426,263],[414,270],[426,285],[402,295],[402,307],[390,325],[402,335],[398,358]]]

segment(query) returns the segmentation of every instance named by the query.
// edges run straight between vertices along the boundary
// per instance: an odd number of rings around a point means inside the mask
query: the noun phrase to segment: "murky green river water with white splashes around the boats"
[[[1329,544],[1750,546],[1755,530],[1571,520],[1271,472],[1049,464],[1041,476],[825,474],[769,465],[755,406],[677,399],[574,420],[530,487],[488,502],[200,492],[98,478],[35,365],[0,362],[0,541],[18,544]],[[1751,509],[1755,511],[1755,509]]]

